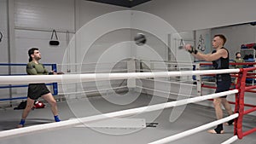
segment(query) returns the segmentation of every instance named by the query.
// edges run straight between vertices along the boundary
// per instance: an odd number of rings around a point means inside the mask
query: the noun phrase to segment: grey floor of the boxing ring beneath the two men
[[[99,113],[115,112],[134,107],[143,107],[151,104],[161,103],[166,99],[152,97],[148,95],[124,95],[108,96],[108,101],[102,97],[80,99],[73,101],[58,102],[60,117],[67,120],[74,117],[86,117]],[[112,102],[109,102],[112,101]],[[117,102],[116,104],[113,104]],[[126,102],[125,102],[126,101]],[[131,101],[127,103],[127,101]],[[162,112],[145,112],[131,116],[130,118],[145,118],[147,123],[158,123],[156,127],[145,129],[116,129],[116,128],[85,128],[73,127],[61,130],[48,130],[40,133],[21,135],[8,139],[0,140],[0,144],[146,144],[148,142],[160,140],[161,138],[175,135],[184,130],[189,130],[207,124],[215,120],[214,110],[211,107],[203,107],[196,104],[177,107],[177,109],[167,108]],[[183,111],[176,121],[170,122],[171,113]],[[0,109],[0,130],[15,129],[20,121],[20,110],[13,108]],[[174,114],[177,114],[174,113]],[[45,124],[53,122],[49,107],[36,109],[32,111],[26,120],[26,126],[35,124]],[[256,118],[247,116],[244,118],[244,130],[256,127]],[[183,139],[174,141],[174,144],[219,144],[233,136],[233,126],[224,126],[225,134],[212,135],[207,131],[202,131],[195,135],[189,135]],[[256,133],[247,135],[242,140],[234,142],[235,144],[256,144]]]

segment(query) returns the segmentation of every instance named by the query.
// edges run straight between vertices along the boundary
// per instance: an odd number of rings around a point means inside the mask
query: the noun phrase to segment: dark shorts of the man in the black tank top
[[[224,91],[228,91],[230,90],[230,86],[231,86],[231,78],[230,77],[222,77],[222,78],[217,78],[217,89],[215,91],[215,93],[220,93],[220,92],[224,92]],[[221,98],[226,98],[227,95],[221,96]]]

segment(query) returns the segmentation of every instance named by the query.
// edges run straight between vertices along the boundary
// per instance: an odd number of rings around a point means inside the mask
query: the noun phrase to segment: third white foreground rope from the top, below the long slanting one
[[[183,131],[183,132],[181,132],[179,134],[166,137],[166,138],[161,139],[159,141],[150,142],[148,144],[163,144],[163,143],[167,143],[167,142],[171,142],[171,141],[176,141],[176,140],[181,139],[181,138],[183,138],[185,136],[193,135],[193,134],[198,133],[198,132],[200,132],[202,130],[207,130],[207,129],[209,129],[209,128],[213,127],[213,126],[216,126],[218,124],[223,124],[224,122],[227,122],[227,121],[229,121],[231,119],[237,118],[238,116],[239,116],[238,113],[232,114],[229,117],[218,119],[218,120],[216,120],[216,121],[214,121],[212,123],[204,124],[204,125],[201,125],[201,126],[199,126],[197,128],[194,128],[194,129],[191,129],[191,130],[187,130],[187,131]]]

